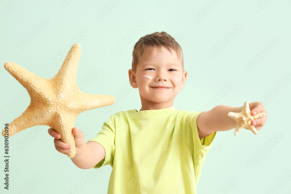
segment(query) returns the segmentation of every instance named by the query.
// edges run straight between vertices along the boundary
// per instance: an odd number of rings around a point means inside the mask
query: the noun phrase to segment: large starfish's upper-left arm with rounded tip
[[[48,79],[40,78],[36,74],[31,73],[13,62],[6,62],[4,67],[24,88],[26,88],[31,98],[43,98],[45,93],[49,93],[45,92],[43,89],[43,86],[47,84]]]

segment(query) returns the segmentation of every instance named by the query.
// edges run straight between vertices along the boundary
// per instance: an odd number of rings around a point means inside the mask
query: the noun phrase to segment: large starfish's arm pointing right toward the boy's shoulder
[[[115,98],[111,95],[86,94],[80,91],[74,96],[74,100],[71,101],[68,108],[78,115],[84,111],[109,106],[114,104],[115,101]]]

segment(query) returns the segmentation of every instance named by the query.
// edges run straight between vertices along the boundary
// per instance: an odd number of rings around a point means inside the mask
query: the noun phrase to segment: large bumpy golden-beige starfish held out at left
[[[31,98],[26,111],[8,125],[8,136],[36,125],[47,125],[61,134],[63,142],[71,145],[71,152],[66,153],[68,157],[75,156],[72,129],[77,115],[115,102],[113,96],[86,94],[79,90],[76,74],[80,55],[81,45],[76,43],[68,52],[61,69],[51,79],[40,78],[13,62],[4,64],[5,69],[26,88]]]

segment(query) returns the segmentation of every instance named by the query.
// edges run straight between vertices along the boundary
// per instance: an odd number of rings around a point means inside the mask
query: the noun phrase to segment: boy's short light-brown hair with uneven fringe
[[[139,63],[139,58],[143,56],[143,54],[147,53],[148,55],[152,55],[153,50],[155,48],[161,52],[162,46],[164,46],[171,54],[172,51],[175,51],[178,56],[178,60],[181,61],[182,70],[184,71],[184,58],[182,48],[179,43],[168,33],[162,32],[154,32],[151,34],[147,34],[141,37],[134,45],[132,51],[132,70],[135,73],[137,64]]]

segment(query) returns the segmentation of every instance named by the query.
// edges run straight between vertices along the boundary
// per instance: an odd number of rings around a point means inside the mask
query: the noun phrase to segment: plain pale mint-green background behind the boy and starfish
[[[53,77],[60,69],[65,56],[55,65],[52,60],[60,55],[70,41],[85,35],[79,40],[82,46],[81,58],[77,72],[77,84],[83,84],[85,77],[98,70],[97,75],[84,85],[82,92],[89,94],[106,94],[119,97],[107,113],[106,107],[90,110],[77,116],[74,126],[84,132],[85,141],[93,138],[102,129],[103,122],[111,114],[132,109],[139,110],[141,101],[138,89],[129,85],[128,69],[131,68],[133,46],[141,36],[155,31],[166,31],[177,39],[183,49],[184,66],[188,74],[195,74],[187,79],[184,90],[175,98],[176,109],[202,111],[213,99],[211,106],[243,106],[244,101],[263,102],[268,93],[276,94],[264,103],[268,113],[265,126],[254,135],[242,129],[238,136],[231,131],[218,132],[207,154],[202,175],[198,184],[201,193],[269,193],[279,188],[276,193],[291,193],[290,166],[290,88],[291,81],[279,90],[276,85],[290,75],[290,1],[264,1],[266,4],[257,10],[259,0],[247,1],[126,1],[117,0],[104,17],[99,13],[113,1],[17,1],[6,14],[12,2],[1,1],[1,123],[9,123],[21,115],[30,103],[30,97],[24,87],[3,67],[7,61],[21,65],[25,69],[43,78]],[[205,6],[213,3],[207,11]],[[12,6],[12,5],[10,5]],[[197,20],[196,15],[205,9],[205,15]],[[38,34],[33,29],[42,20],[48,23]],[[139,23],[144,23],[133,37],[129,34]],[[240,29],[231,40],[228,33]],[[17,53],[15,47],[24,38],[33,34],[33,39]],[[180,36],[181,38],[178,38]],[[278,42],[267,52],[263,47],[277,37]],[[122,40],[129,42],[113,56],[112,50]],[[210,59],[208,53],[223,40],[227,44]],[[255,55],[263,56],[249,71],[245,65]],[[232,88],[220,99],[216,96],[223,92],[227,84]],[[6,106],[19,95],[23,97],[11,110]],[[73,193],[79,184],[85,183],[77,192],[107,193],[111,166],[99,170],[83,170],[76,167],[67,155],[56,151],[53,138],[49,136],[48,126],[31,127],[9,138],[9,191],[3,189],[4,159],[0,159],[0,193]],[[19,145],[31,136],[22,148]],[[282,137],[274,140],[276,134]],[[217,153],[216,147],[226,140]],[[0,157],[4,155],[4,138],[0,140]],[[273,140],[274,145],[268,149],[266,144]],[[221,146],[222,144],[220,144]],[[262,157],[258,152],[265,149]],[[258,161],[250,166],[253,157]],[[60,157],[60,158],[58,158]],[[173,166],[175,168],[175,166]],[[91,178],[88,178],[90,175]],[[31,188],[36,175],[40,180]],[[280,184],[281,179],[288,180]],[[228,187],[229,181],[235,184]],[[30,188],[30,189],[29,189]]]

